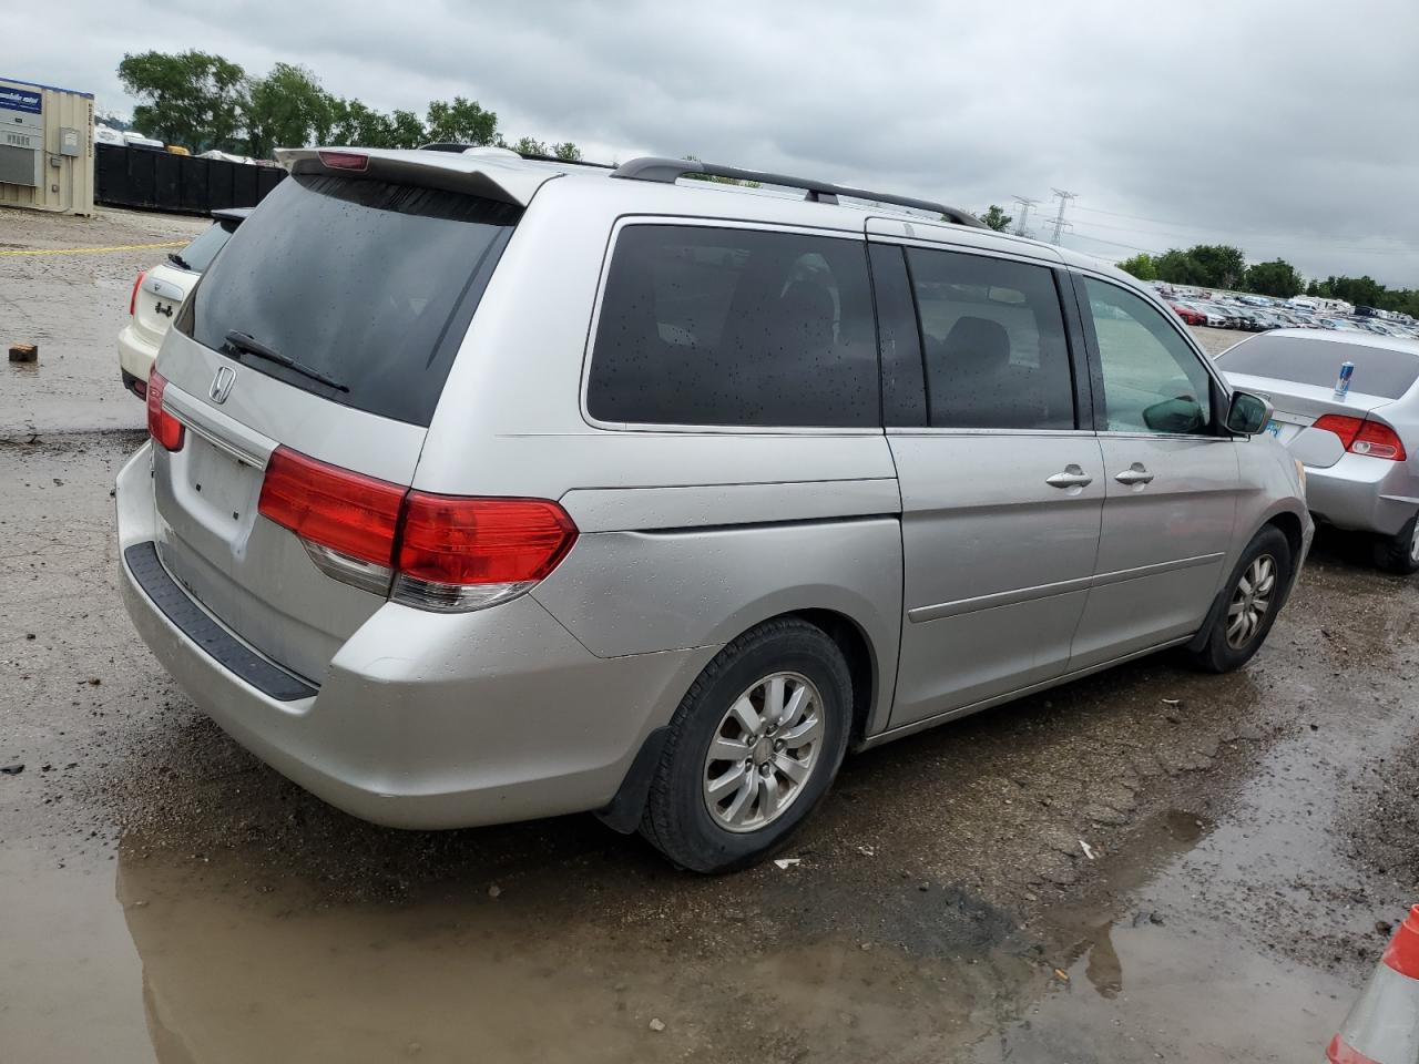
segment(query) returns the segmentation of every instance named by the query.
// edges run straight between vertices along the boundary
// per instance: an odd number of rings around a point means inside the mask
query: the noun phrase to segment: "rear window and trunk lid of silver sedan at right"
[[[1355,363],[1349,392],[1335,394],[1341,363]],[[1314,468],[1345,454],[1337,433],[1314,428],[1323,417],[1374,420],[1419,379],[1419,358],[1402,350],[1338,343],[1294,333],[1266,333],[1229,348],[1216,359],[1227,380],[1264,396],[1274,413],[1267,431]]]

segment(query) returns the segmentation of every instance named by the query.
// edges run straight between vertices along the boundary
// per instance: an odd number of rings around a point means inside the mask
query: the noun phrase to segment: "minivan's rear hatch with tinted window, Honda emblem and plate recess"
[[[162,409],[186,428],[176,450],[155,444],[159,556],[217,620],[316,684],[386,590],[333,579],[258,512],[272,455],[406,488],[522,211],[487,194],[495,183],[468,183],[467,166],[379,155],[341,156],[368,159],[345,173],[299,153],[203,275],[156,367]],[[444,187],[419,184],[424,170]]]

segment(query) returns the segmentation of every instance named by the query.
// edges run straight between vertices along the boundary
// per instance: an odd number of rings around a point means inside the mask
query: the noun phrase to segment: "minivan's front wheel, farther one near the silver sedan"
[[[1267,526],[1247,543],[1223,592],[1226,603],[1200,650],[1188,650],[1195,668],[1230,672],[1266,643],[1281,600],[1291,584],[1291,543],[1279,528]]]

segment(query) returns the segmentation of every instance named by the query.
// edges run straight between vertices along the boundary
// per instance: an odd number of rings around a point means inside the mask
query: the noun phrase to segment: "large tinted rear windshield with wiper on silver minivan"
[[[294,174],[204,274],[192,336],[335,403],[427,426],[521,213],[453,192]],[[237,350],[228,332],[309,372]]]

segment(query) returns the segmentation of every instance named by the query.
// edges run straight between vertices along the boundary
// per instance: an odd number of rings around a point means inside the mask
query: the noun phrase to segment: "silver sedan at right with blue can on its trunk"
[[[1335,394],[1341,363],[1349,390]],[[1216,359],[1237,389],[1267,396],[1267,431],[1305,465],[1318,521],[1375,536],[1375,563],[1419,572],[1419,340],[1284,329]]]

